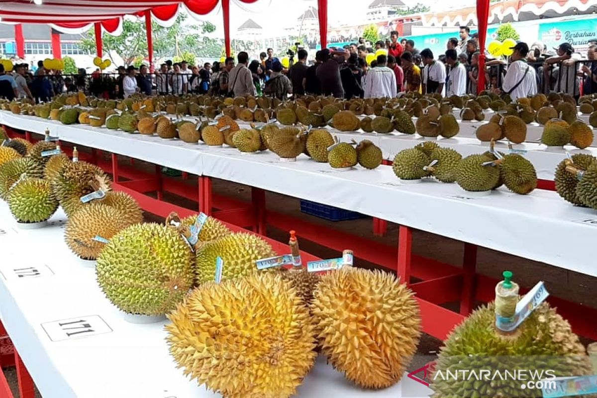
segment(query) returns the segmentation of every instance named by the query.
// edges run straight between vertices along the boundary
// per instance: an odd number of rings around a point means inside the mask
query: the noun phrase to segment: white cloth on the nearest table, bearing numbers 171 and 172
[[[84,268],[64,243],[62,211],[53,226],[20,230],[0,204],[2,323],[44,398],[217,397],[183,376],[168,353],[166,321],[126,322],[101,293],[94,269]],[[31,276],[30,267],[39,275]],[[18,275],[27,275],[19,277]],[[77,322],[83,320],[84,322]],[[59,322],[57,322],[59,321]],[[73,322],[70,326],[58,323]],[[81,327],[87,323],[90,327]],[[67,337],[66,332],[83,333]],[[88,330],[92,329],[93,332]],[[319,357],[298,397],[428,396],[404,377],[381,391],[364,391]]]

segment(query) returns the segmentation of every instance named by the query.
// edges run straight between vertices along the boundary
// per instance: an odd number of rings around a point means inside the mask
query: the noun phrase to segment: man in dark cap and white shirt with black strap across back
[[[514,50],[510,55],[511,62],[501,90],[496,88],[496,91],[505,92],[516,102],[518,98],[537,94],[537,79],[534,67],[527,64],[528,45],[518,42],[514,47],[510,47],[510,50]]]

